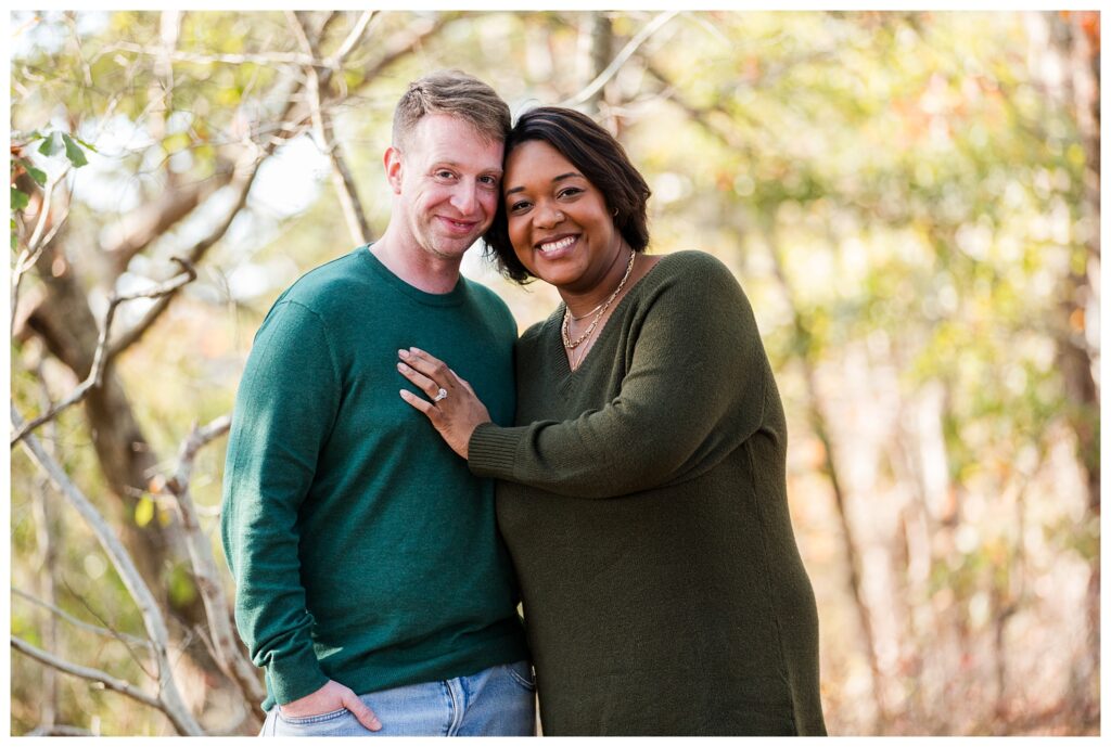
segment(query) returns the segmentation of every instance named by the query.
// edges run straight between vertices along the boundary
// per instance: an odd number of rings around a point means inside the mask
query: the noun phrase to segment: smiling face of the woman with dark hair
[[[506,161],[506,214],[517,259],[537,277],[589,293],[624,243],[605,199],[562,153],[539,140]]]

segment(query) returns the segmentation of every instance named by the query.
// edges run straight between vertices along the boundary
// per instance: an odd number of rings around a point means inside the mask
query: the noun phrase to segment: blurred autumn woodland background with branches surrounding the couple
[[[278,293],[384,228],[393,105],[451,67],[598,118],[651,251],[745,287],[830,733],[1099,733],[1099,13],[9,23],[14,734],[258,730],[227,416]],[[522,329],[554,306],[480,253]]]

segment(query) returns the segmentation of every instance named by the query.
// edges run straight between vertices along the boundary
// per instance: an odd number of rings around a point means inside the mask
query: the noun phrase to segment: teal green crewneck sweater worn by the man
[[[399,349],[439,351],[508,423],[516,330],[488,289],[424,293],[366,246],[270,310],[236,400],[221,519],[264,707],[328,678],[363,694],[528,658],[493,482],[398,396],[396,367]]]

